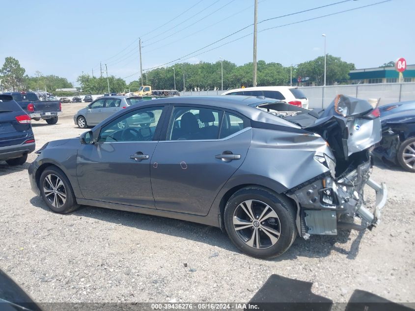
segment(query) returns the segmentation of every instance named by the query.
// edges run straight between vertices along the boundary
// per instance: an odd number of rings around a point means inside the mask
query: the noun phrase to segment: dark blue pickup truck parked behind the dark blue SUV
[[[33,92],[6,92],[3,94],[11,95],[32,120],[43,119],[48,124],[55,124],[57,117],[62,114],[60,101],[40,101]]]

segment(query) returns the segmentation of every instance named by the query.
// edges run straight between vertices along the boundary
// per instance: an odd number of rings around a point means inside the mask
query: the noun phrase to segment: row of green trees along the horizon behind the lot
[[[389,62],[390,63],[390,62]],[[388,63],[385,63],[387,65]],[[151,85],[153,89],[173,89],[179,91],[221,89],[223,68],[223,89],[252,86],[252,62],[244,65],[223,60],[214,63],[199,62],[196,64],[179,63],[169,67],[156,68],[143,73],[142,81],[138,77],[127,84],[124,79],[113,75],[107,78],[80,75],[77,79],[84,92],[102,94],[108,92],[136,91],[140,85]],[[326,56],[326,84],[348,83],[350,70],[355,69],[353,63],[343,61],[340,57]],[[290,85],[290,71],[293,83],[298,77],[323,85],[324,56],[305,61],[295,66],[285,67],[277,62],[257,63],[257,85]],[[43,75],[36,71],[34,76],[25,75],[25,69],[13,57],[6,57],[0,69],[0,86],[3,90],[47,90],[55,92],[57,88],[73,87],[66,78],[55,75]]]

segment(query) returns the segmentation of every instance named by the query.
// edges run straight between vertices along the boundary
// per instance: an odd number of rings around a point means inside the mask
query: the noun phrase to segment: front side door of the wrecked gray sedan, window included
[[[157,145],[163,106],[124,113],[105,124],[97,142],[82,145],[77,156],[78,182],[84,198],[154,208],[150,161]],[[146,127],[140,115],[152,115]],[[118,124],[128,124],[119,129]]]

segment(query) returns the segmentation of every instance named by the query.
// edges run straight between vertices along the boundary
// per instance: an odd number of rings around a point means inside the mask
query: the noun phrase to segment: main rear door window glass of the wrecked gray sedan
[[[167,140],[216,140],[219,137],[221,111],[196,107],[175,107]]]

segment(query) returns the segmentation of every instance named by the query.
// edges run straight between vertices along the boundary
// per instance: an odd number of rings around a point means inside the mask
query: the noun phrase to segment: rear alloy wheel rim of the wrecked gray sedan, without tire
[[[281,234],[277,213],[267,203],[259,200],[246,200],[236,207],[233,227],[239,238],[255,249],[274,246]]]

